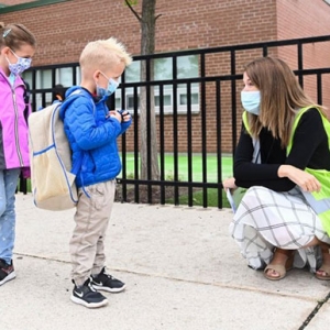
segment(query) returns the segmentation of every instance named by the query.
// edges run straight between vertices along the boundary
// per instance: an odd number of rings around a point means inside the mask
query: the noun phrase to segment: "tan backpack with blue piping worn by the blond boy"
[[[69,97],[85,95],[80,89]],[[45,210],[72,209],[78,201],[75,178],[81,162],[72,168],[72,151],[59,118],[61,102],[29,117],[31,185],[34,204]]]

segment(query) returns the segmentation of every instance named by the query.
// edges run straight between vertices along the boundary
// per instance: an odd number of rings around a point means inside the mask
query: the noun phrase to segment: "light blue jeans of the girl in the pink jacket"
[[[0,170],[0,258],[10,264],[15,239],[15,190],[21,168]]]

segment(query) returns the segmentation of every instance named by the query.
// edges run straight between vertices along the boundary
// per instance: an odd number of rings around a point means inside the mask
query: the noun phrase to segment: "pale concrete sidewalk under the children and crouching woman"
[[[116,204],[107,265],[127,290],[106,293],[99,309],[69,299],[74,210],[40,210],[18,195],[16,212],[18,277],[0,287],[1,330],[329,329],[330,283],[250,270],[229,237],[230,210]]]

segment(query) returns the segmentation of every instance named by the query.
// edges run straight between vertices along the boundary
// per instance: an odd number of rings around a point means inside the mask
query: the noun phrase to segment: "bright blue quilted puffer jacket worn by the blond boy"
[[[67,90],[59,110],[73,151],[73,167],[81,162],[76,177],[78,188],[114,179],[121,170],[117,138],[132,120],[120,123],[110,118],[106,100],[74,86]]]

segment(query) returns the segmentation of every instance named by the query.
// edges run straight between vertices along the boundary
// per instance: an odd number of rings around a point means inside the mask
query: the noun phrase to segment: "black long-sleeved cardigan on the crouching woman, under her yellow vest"
[[[288,178],[278,177],[278,167],[283,164],[300,169],[309,167],[330,170],[328,136],[321,116],[315,108],[301,116],[288,157],[286,150],[280,147],[280,141],[274,139],[267,129],[261,131],[260,143],[262,164],[254,164],[252,139],[242,125],[233,164],[237,186],[244,188],[263,186],[275,191],[288,191],[296,184]]]

